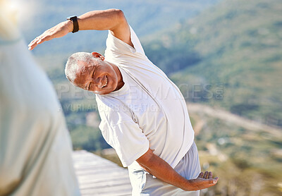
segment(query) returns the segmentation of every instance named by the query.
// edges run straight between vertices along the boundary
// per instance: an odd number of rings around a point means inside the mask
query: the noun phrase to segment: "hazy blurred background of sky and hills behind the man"
[[[13,1],[27,42],[67,16],[121,8],[188,102],[202,168],[220,178],[202,195],[282,194],[282,1]],[[104,54],[106,35],[70,33],[32,54],[54,82],[74,149],[116,161],[103,150],[94,95],[63,71],[73,52]]]

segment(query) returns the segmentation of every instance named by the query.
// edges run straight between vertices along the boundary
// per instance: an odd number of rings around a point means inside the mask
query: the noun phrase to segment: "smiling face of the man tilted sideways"
[[[78,61],[80,68],[73,83],[77,87],[97,94],[109,94],[117,89],[121,75],[116,71],[118,68],[104,61],[104,56],[94,57],[95,59],[90,59],[87,63]]]

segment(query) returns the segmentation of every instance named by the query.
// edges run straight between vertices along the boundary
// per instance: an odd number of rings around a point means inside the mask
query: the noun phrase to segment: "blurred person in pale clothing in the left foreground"
[[[0,195],[80,195],[56,92],[0,0]]]

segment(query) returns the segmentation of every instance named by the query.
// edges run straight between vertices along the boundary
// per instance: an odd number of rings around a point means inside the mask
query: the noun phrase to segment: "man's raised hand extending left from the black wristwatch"
[[[68,20],[62,23],[59,23],[58,25],[51,27],[51,29],[46,30],[42,33],[42,35],[39,35],[35,39],[28,44],[28,49],[32,50],[35,47],[37,47],[38,44],[42,44],[45,41],[49,41],[54,38],[63,37],[68,34],[68,32],[73,31],[73,22]]]

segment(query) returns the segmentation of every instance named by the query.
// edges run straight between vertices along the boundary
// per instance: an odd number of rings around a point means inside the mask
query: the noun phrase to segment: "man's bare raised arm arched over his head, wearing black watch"
[[[104,11],[90,11],[78,17],[79,30],[111,30],[111,33],[123,42],[133,47],[130,39],[130,28],[123,14],[118,9]],[[59,23],[58,25],[46,30],[30,42],[28,49],[32,50],[38,44],[59,38],[73,31],[73,22],[70,20]]]

